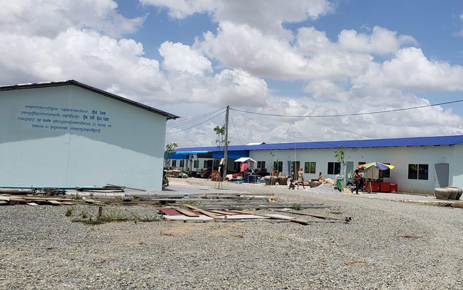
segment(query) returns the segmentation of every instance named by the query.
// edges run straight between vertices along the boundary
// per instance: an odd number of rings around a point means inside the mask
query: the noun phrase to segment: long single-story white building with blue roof
[[[296,161],[296,168],[304,168],[306,180],[317,179],[319,172],[334,179],[341,169],[334,157],[340,145],[345,147],[346,173],[378,161],[395,166],[384,171],[383,178],[396,183],[398,191],[432,194],[435,187],[463,188],[463,136],[233,145],[228,147],[227,170],[239,170],[234,159],[251,157],[257,168],[267,172],[276,169],[292,175]],[[212,163],[217,166],[220,158],[223,148],[215,146],[178,148],[171,165],[199,171]]]

